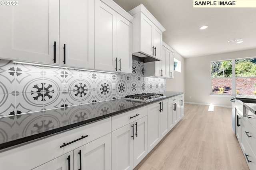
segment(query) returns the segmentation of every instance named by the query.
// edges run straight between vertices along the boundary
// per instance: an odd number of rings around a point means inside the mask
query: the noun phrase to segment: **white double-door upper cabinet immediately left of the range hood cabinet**
[[[114,2],[104,2],[95,1],[95,69],[132,73],[133,18],[110,8]]]

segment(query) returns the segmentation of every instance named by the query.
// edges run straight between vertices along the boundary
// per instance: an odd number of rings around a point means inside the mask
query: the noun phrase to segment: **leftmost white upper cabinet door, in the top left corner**
[[[54,63],[54,42],[58,56],[59,0],[22,0],[17,6],[2,6],[0,20],[1,58]]]

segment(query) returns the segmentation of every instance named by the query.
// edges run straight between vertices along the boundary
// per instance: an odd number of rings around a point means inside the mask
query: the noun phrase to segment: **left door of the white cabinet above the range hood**
[[[153,56],[153,23],[144,14],[140,15],[140,50]]]

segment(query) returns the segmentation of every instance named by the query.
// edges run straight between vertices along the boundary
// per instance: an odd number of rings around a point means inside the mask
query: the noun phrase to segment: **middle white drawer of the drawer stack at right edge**
[[[242,133],[245,133],[244,137],[246,138],[246,141],[248,142],[254,154],[256,154],[256,129],[246,119],[244,120],[244,124],[244,130]]]

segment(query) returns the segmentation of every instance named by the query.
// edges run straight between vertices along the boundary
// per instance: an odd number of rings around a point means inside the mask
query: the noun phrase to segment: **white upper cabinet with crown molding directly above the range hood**
[[[142,4],[132,9],[129,14],[134,17],[132,24],[133,55],[161,59],[162,33],[165,28]]]

